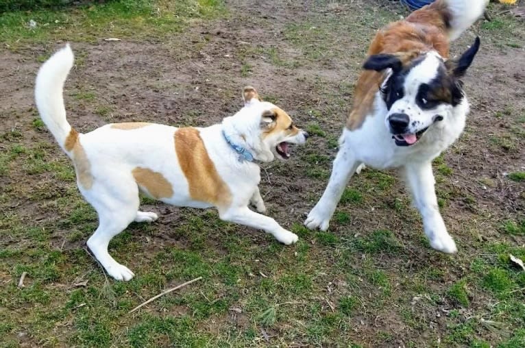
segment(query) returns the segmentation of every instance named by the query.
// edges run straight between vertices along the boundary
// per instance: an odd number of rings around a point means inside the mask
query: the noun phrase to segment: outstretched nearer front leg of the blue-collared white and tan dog
[[[219,216],[224,221],[262,229],[269,234],[273,234],[280,243],[286,245],[293,244],[299,239],[296,234],[282,228],[275,220],[268,216],[252,212],[248,207],[230,207],[225,210],[219,209]]]

